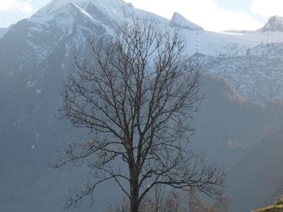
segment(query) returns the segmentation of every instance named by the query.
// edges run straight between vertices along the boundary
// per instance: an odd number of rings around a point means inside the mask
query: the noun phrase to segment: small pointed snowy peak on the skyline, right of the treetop
[[[200,25],[190,22],[177,12],[174,13],[170,25],[171,27],[179,27],[187,30],[202,30],[202,27]]]

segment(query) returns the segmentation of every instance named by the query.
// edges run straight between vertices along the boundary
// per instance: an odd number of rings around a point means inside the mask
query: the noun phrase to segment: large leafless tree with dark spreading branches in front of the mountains
[[[54,167],[86,160],[96,182],[84,184],[67,206],[109,179],[125,192],[132,212],[156,185],[221,193],[224,174],[187,146],[202,96],[200,73],[185,55],[180,31],[136,19],[89,46],[92,60],[78,62],[61,112],[90,136],[69,143]]]

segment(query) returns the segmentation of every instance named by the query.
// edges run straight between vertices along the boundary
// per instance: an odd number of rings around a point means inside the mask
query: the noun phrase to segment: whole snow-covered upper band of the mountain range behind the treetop
[[[200,60],[203,61],[203,66],[207,67],[206,71],[229,79],[238,88],[238,92],[241,91],[241,95],[247,99],[270,100],[273,97],[283,96],[282,92],[277,95],[272,91],[272,95],[258,98],[258,94],[253,93],[253,90],[265,88],[258,85],[262,85],[261,76],[270,73],[268,71],[270,67],[276,69],[274,76],[283,73],[278,61],[270,64],[270,61],[265,60],[279,57],[280,62],[282,61],[283,48],[278,44],[283,42],[283,24],[281,24],[283,18],[277,16],[270,18],[262,31],[279,31],[268,35],[261,31],[215,33],[203,30],[200,25],[190,22],[180,13],[175,12],[173,18],[168,20],[154,13],[134,8],[132,4],[122,0],[53,0],[31,18],[13,25],[5,36],[0,38],[0,90],[8,92],[6,90],[12,89],[13,85],[23,83],[25,89],[33,90],[36,95],[42,95],[45,93],[43,83],[47,78],[63,77],[58,76],[58,73],[65,76],[73,69],[74,52],[77,52],[81,58],[84,57],[88,49],[86,37],[99,37],[100,33],[111,35],[117,25],[131,23],[133,17],[148,16],[154,19],[158,28],[168,26],[172,27],[171,30],[175,27],[181,28],[181,33],[187,42],[186,53],[193,55],[198,52],[199,56],[209,56]],[[265,45],[267,40],[268,45]],[[255,47],[258,48],[253,49]],[[261,58],[263,56],[264,59]],[[252,64],[254,67],[253,71],[247,72],[246,70],[252,69],[250,57],[254,58]],[[260,62],[265,64],[259,67]],[[219,66],[216,66],[217,64]],[[238,71],[238,67],[243,67],[243,73]],[[257,79],[255,73],[258,74]],[[10,78],[16,83],[9,83]],[[253,83],[255,86],[250,86],[251,80],[255,81]],[[243,83],[246,83],[248,88],[242,89]],[[272,86],[275,86],[274,90],[277,91],[283,88],[283,83],[278,81],[278,86],[276,83],[272,83]]]

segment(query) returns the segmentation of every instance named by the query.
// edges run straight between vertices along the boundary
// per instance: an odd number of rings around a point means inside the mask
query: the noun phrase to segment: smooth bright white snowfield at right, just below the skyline
[[[198,52],[211,56],[244,56],[248,49],[260,44],[283,42],[283,33],[214,33],[205,30],[183,30],[187,37],[187,54],[196,53],[196,42]],[[268,39],[267,39],[268,37]]]

